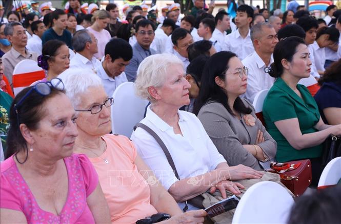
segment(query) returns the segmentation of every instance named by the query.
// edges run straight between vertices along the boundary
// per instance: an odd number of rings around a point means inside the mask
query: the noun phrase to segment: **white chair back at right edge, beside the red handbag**
[[[318,189],[328,185],[335,185],[341,179],[341,157],[332,159],[323,170],[319,181]]]

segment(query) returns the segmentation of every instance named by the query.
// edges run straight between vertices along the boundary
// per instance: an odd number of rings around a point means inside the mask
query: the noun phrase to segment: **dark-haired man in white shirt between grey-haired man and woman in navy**
[[[26,48],[29,51],[36,52],[38,55],[42,54],[43,43],[42,43],[42,36],[46,30],[46,26],[43,21],[34,21],[31,24],[31,29],[33,32],[32,38],[27,40]]]

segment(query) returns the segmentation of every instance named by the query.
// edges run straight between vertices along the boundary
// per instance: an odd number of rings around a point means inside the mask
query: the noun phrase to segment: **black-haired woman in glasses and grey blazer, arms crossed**
[[[229,165],[243,164],[261,171],[276,154],[277,145],[255,115],[250,102],[240,98],[247,87],[248,68],[229,51],[206,62],[194,113]]]

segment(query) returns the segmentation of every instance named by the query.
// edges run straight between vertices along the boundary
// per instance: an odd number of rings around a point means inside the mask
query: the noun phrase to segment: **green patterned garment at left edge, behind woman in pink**
[[[11,108],[13,98],[4,91],[0,91],[0,137],[6,155],[6,139],[9,129],[9,111]]]

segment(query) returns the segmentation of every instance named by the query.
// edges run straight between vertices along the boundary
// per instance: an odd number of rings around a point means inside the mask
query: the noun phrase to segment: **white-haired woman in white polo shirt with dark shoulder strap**
[[[183,63],[177,57],[168,53],[155,54],[139,65],[135,81],[137,95],[151,101],[141,123],[162,139],[180,180],[175,177],[162,148],[142,128],[137,128],[131,136],[138,154],[177,202],[207,190],[213,193],[218,189],[224,198],[225,190],[240,194],[238,188],[244,186],[232,180],[260,178],[263,174],[244,165],[228,166],[198,118],[179,110],[190,103],[190,84],[184,75]],[[185,204],[179,206],[183,209]],[[188,206],[190,210],[197,209]]]

